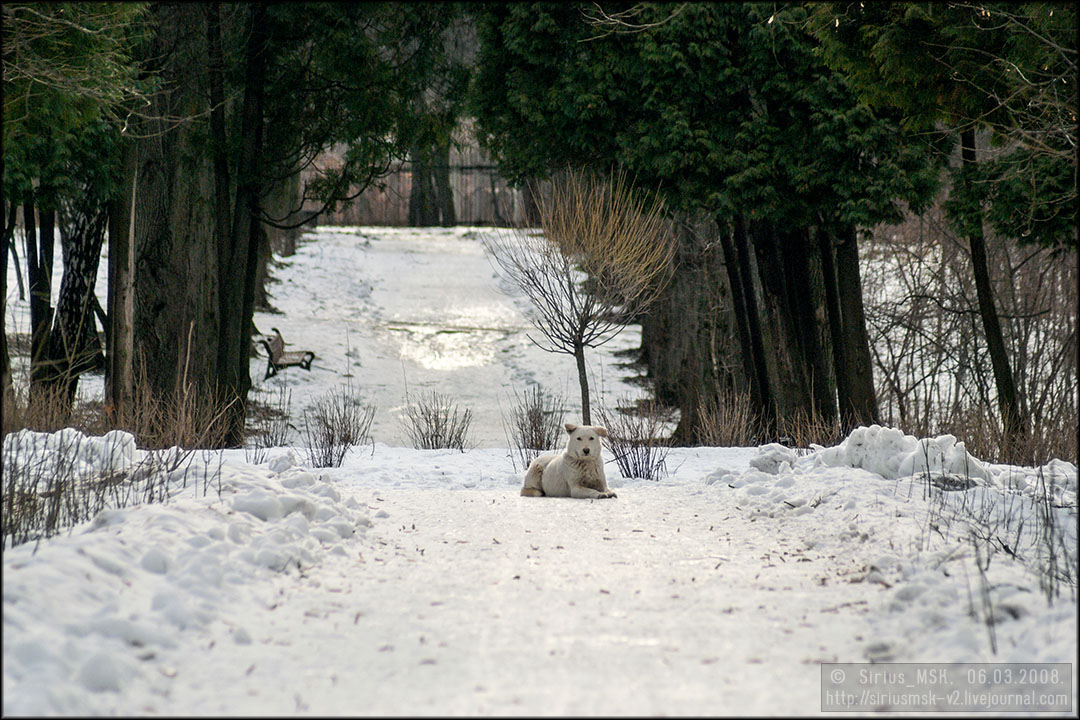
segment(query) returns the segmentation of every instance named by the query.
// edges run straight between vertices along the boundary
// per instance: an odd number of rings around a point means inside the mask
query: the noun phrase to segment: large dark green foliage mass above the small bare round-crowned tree
[[[894,221],[935,189],[926,145],[822,63],[802,6],[639,5],[647,30],[607,33],[590,6],[477,12],[472,109],[512,178],[621,165],[676,207],[801,226]]]

